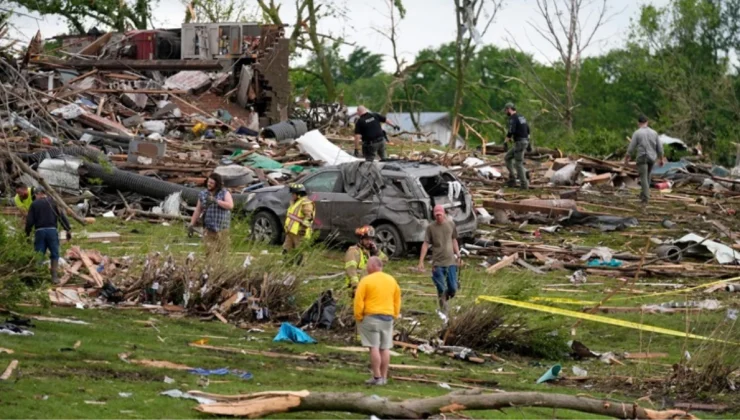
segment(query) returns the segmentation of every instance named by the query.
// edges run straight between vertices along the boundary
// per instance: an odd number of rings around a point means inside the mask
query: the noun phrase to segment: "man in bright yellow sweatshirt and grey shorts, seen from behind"
[[[401,288],[392,276],[383,273],[383,261],[370,257],[368,275],[355,293],[355,320],[362,345],[370,350],[373,377],[367,385],[388,383],[388,366],[393,347],[393,320],[401,313]]]

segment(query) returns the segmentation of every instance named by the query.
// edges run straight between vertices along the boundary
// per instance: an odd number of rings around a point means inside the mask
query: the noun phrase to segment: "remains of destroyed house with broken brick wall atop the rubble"
[[[97,86],[110,90],[173,89],[171,83],[162,82],[178,76],[177,90],[196,95],[211,90],[202,98],[203,110],[223,108],[247,121],[253,119],[254,112],[259,126],[264,127],[288,118],[289,41],[284,35],[282,26],[221,22],[102,36],[61,36],[54,39],[70,48],[74,45],[72,58],[39,57],[34,62],[51,69],[74,70],[78,75],[93,69],[136,71],[150,79]]]

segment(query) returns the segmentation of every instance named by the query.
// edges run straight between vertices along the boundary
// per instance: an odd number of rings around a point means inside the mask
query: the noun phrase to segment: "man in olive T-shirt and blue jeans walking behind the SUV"
[[[457,292],[457,264],[460,246],[457,242],[455,222],[447,218],[441,204],[434,206],[434,222],[427,226],[424,244],[421,246],[419,271],[424,271],[424,258],[432,247],[432,281],[437,288],[439,309],[447,313],[447,302]]]

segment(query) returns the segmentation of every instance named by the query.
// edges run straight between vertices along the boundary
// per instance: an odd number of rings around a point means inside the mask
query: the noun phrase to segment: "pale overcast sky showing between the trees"
[[[558,0],[560,1],[560,0]],[[586,0],[584,3],[601,3],[600,0]],[[247,4],[256,4],[246,0]],[[669,0],[608,0],[610,21],[597,34],[586,55],[596,55],[624,44],[629,33],[631,20],[636,19],[640,6],[653,4],[665,6]],[[281,13],[283,21],[295,21],[294,2],[283,1]],[[337,2],[342,3],[342,2]],[[385,0],[345,0],[343,6],[346,19],[331,19],[320,23],[322,33],[344,35],[357,45],[365,46],[374,52],[390,55],[390,43],[374,29],[387,30],[389,27],[388,6]],[[455,13],[453,0],[403,0],[406,18],[399,24],[399,52],[412,61],[415,54],[429,47],[436,47],[455,38]],[[591,27],[596,20],[597,7],[589,7],[583,14],[586,26]],[[25,12],[19,10],[19,12]],[[185,14],[179,0],[160,0],[155,6],[153,19],[160,27],[178,27]],[[21,30],[20,38],[27,42],[37,30],[44,38],[62,34],[67,25],[61,18],[45,17],[33,19],[16,15],[16,26]],[[529,23],[542,23],[539,18],[536,0],[508,0],[496,16],[494,24],[483,37],[486,44],[508,46],[508,39],[514,37],[527,52],[539,60],[557,57],[555,49],[531,28]],[[386,60],[387,69],[391,68]]]

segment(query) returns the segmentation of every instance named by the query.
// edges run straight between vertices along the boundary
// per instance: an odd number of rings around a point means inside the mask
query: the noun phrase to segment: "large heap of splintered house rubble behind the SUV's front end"
[[[304,121],[285,121],[287,93],[278,79],[287,84],[286,40],[282,28],[260,28],[260,36],[245,38],[246,52],[232,54],[231,67],[210,56],[126,59],[136,31],[93,37],[63,60],[42,54],[37,35],[22,62],[0,61],[6,195],[13,184],[43,179],[82,218],[121,209],[158,215],[179,194],[170,215],[180,215],[213,172],[239,201],[311,167],[351,159]],[[293,141],[301,138],[304,146]],[[36,173],[19,171],[8,153]]]

